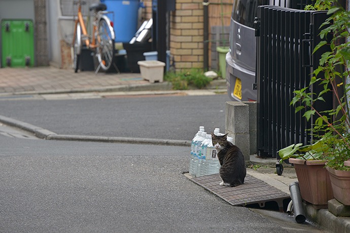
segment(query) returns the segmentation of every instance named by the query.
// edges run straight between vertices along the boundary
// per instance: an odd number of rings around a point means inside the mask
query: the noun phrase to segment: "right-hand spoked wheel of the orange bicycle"
[[[109,71],[114,63],[114,31],[108,20],[101,18],[98,23],[96,55],[100,68]]]

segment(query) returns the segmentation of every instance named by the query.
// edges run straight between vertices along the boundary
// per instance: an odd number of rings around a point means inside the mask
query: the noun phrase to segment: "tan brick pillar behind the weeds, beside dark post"
[[[177,0],[170,17],[170,53],[177,70],[203,68],[203,1]]]

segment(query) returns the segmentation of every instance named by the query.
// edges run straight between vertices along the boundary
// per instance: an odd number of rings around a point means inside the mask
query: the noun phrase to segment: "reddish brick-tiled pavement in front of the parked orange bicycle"
[[[150,84],[140,73],[75,73],[55,67],[0,68],[0,94],[59,93]]]

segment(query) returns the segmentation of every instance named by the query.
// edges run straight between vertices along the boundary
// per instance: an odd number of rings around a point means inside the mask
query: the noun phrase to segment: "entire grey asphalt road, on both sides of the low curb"
[[[190,140],[199,125],[223,131],[225,97],[1,101],[0,114],[61,134]],[[320,232],[191,182],[188,146],[18,135],[0,129],[0,232]]]

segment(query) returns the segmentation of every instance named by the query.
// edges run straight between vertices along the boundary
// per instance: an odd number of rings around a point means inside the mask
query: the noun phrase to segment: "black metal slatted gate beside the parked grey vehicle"
[[[312,121],[295,113],[290,105],[294,90],[310,82],[312,67],[319,66],[319,27],[325,11],[302,11],[260,6],[256,18],[258,85],[258,151],[262,157],[277,157],[277,151],[293,143],[311,141]],[[312,87],[318,93],[318,87]],[[332,104],[332,96],[326,99]],[[319,110],[329,107],[319,106]]]

